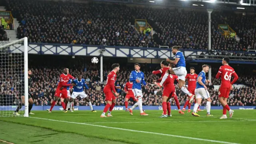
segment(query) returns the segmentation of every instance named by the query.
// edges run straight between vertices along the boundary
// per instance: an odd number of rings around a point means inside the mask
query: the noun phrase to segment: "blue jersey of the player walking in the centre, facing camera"
[[[140,83],[136,82],[135,80],[140,80]],[[141,83],[146,86],[146,82],[144,79],[144,73],[142,71],[135,71],[133,70],[130,74],[130,82],[133,82],[132,89],[141,90]]]

